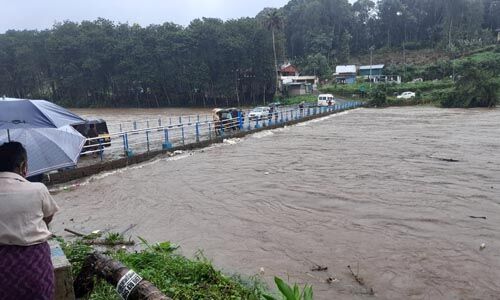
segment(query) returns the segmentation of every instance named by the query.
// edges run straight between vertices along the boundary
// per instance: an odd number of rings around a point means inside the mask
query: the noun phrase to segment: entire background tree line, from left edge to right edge
[[[0,34],[0,93],[66,106],[256,104],[272,99],[283,61],[327,78],[371,46],[457,56],[492,43],[499,15],[500,0],[291,0],[255,18],[187,27],[67,21]],[[404,73],[418,75],[412,68]],[[422,77],[450,68],[443,61]]]

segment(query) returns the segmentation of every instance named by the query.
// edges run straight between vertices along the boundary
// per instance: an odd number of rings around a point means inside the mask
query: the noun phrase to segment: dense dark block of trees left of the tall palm
[[[271,36],[250,18],[0,35],[0,92],[68,106],[238,105],[272,96],[273,78]]]

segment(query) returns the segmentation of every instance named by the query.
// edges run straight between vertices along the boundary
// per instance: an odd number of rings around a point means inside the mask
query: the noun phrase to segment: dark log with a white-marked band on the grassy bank
[[[75,296],[88,296],[94,288],[94,276],[116,286],[117,293],[128,300],[171,300],[151,282],[143,280],[121,262],[101,253],[89,255],[74,282]]]

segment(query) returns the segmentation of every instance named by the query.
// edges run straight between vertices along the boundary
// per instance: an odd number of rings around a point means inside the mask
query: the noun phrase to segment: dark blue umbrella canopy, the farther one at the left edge
[[[0,98],[0,129],[57,128],[84,119],[45,100]]]

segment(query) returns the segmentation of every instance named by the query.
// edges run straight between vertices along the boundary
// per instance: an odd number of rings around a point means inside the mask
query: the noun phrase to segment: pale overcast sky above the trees
[[[0,0],[0,33],[9,29],[47,29],[64,20],[103,17],[142,26],[174,22],[188,25],[201,17],[223,20],[254,17],[264,7],[288,0]]]

